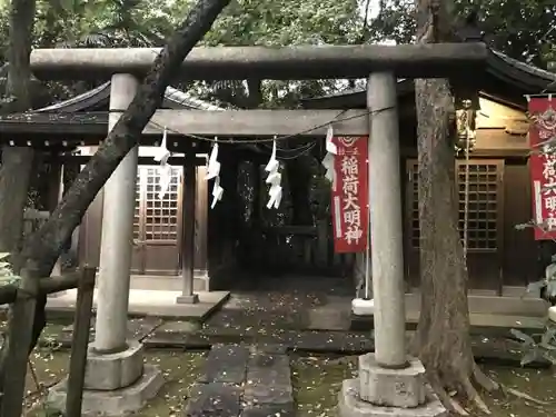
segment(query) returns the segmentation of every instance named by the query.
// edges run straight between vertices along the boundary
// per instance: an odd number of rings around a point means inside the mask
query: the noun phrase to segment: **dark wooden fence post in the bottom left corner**
[[[12,306],[8,342],[8,363],[3,381],[2,417],[21,417],[26,394],[29,345],[32,338],[34,307],[39,291],[38,268],[27,265],[21,270],[21,284]]]

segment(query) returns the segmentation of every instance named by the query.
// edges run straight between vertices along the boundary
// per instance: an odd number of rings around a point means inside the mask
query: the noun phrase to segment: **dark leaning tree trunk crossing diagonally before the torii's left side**
[[[145,126],[162,102],[163,92],[189,51],[210,29],[230,0],[199,0],[156,58],[133,101],[123,112],[98,151],[78,175],[49,220],[27,241],[22,259],[38,265],[49,276],[63,246],[79,226],[85,211],[123,157],[139,141]],[[44,327],[44,302],[38,302],[32,347]],[[32,347],[30,347],[32,349]],[[3,378],[0,367],[0,379]]]

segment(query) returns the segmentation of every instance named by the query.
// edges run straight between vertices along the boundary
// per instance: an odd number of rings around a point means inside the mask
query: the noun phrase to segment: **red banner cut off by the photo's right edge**
[[[556,105],[556,103],[555,103]],[[532,97],[529,115],[533,119],[529,127],[532,156],[529,160],[533,182],[533,212],[535,240],[556,238],[556,155],[543,143],[556,141],[556,111],[552,97]],[[552,143],[554,146],[556,143]]]

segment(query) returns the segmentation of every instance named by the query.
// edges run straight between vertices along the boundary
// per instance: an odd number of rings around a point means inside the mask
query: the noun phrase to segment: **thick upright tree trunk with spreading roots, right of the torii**
[[[447,9],[435,10],[433,2],[417,1],[421,17],[417,33],[419,42],[441,39],[441,24],[448,22]],[[445,2],[443,6],[446,7]],[[456,390],[463,399],[473,400],[485,411],[487,408],[474,383],[487,389],[496,386],[477,368],[470,346],[468,277],[458,230],[455,149],[451,139],[454,100],[449,83],[444,79],[416,80],[415,95],[418,119],[421,311],[413,348],[418,353],[445,406],[453,411],[461,411],[446,394],[447,390]],[[430,207],[435,209],[430,210]]]

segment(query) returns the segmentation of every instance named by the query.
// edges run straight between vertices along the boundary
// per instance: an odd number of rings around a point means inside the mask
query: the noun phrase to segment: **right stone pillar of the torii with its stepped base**
[[[369,208],[375,296],[375,353],[359,357],[359,376],[344,381],[340,417],[444,417],[427,393],[425,368],[406,354],[401,180],[396,77],[370,75]]]

